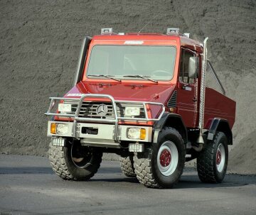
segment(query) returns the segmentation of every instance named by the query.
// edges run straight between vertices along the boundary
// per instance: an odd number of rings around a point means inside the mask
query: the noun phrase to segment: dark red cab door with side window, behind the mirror
[[[197,54],[187,48],[181,49],[177,89],[177,114],[180,114],[186,127],[195,128],[198,124],[198,75],[188,76],[189,57]],[[198,70],[197,70],[198,71]]]

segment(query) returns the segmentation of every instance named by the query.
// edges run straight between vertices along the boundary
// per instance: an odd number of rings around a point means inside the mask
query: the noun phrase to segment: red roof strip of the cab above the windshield
[[[166,35],[161,33],[126,33],[124,35],[119,34],[107,34],[107,35],[95,35],[92,40],[176,40],[181,47],[186,47],[191,50],[196,50],[199,53],[203,53],[203,47],[197,40],[186,37],[183,34]]]

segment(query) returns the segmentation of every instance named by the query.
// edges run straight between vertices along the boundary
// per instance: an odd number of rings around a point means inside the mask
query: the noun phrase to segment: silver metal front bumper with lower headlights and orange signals
[[[65,125],[65,133],[51,133],[51,124]],[[129,128],[144,129],[144,139],[129,138],[127,131]],[[88,133],[90,131],[97,131],[95,133]],[[73,137],[80,139],[82,145],[94,145],[108,148],[119,148],[121,141],[132,142],[151,142],[152,140],[152,127],[150,126],[117,126],[117,140],[114,140],[115,128],[112,124],[101,123],[73,123],[65,121],[48,121],[47,136],[57,137]]]

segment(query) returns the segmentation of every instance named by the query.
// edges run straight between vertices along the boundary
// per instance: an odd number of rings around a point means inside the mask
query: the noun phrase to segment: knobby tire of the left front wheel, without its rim
[[[90,153],[89,162],[84,158],[75,158],[77,162],[74,162],[71,152],[71,144],[68,144],[67,147],[61,147],[53,146],[50,143],[48,154],[53,171],[64,180],[89,180],[100,167],[102,153]]]

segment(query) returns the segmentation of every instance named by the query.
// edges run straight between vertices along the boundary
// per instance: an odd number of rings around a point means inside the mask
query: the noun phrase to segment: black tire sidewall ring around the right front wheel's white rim
[[[166,141],[171,141],[176,145],[178,150],[178,165],[174,173],[169,176],[164,176],[161,174],[159,167],[157,165],[157,154],[159,152],[159,148]],[[160,187],[173,187],[174,184],[178,182],[183,172],[183,167],[185,163],[185,145],[183,143],[183,139],[181,135],[174,128],[165,128],[163,131],[159,133],[158,143],[152,146],[153,152],[151,154],[151,162],[152,162],[152,172],[154,174],[156,182],[160,185]]]

